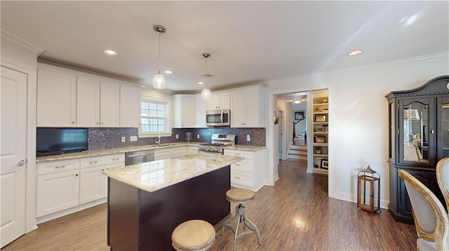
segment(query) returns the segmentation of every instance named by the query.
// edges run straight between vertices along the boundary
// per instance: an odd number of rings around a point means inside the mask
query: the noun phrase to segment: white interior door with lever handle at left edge
[[[27,74],[1,66],[1,224],[3,248],[25,234]]]

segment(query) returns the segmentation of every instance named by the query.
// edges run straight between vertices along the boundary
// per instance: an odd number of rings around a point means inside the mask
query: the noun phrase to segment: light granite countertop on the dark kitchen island
[[[196,154],[153,162],[110,168],[102,171],[109,178],[154,192],[243,160],[242,157]]]

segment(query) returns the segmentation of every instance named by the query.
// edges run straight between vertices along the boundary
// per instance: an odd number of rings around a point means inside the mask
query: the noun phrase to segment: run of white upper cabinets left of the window
[[[138,85],[46,64],[38,67],[37,127],[139,127]]]

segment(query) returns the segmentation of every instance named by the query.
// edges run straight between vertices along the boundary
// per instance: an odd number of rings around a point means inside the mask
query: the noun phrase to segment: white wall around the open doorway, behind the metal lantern
[[[449,74],[449,54],[363,66],[267,83],[273,95],[329,89],[329,196],[356,201],[356,174],[369,164],[381,176],[381,206],[389,203],[388,107],[385,94]],[[269,124],[269,135],[272,128]],[[272,137],[267,138],[268,147]],[[269,149],[270,155],[272,150]],[[269,173],[277,173],[273,159]]]

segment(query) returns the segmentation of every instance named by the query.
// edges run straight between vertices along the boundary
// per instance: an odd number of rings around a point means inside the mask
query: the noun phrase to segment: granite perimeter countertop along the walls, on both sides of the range
[[[76,159],[83,157],[95,157],[100,155],[114,155],[117,153],[125,153],[125,152],[134,152],[140,150],[155,150],[155,149],[163,149],[163,148],[175,148],[177,146],[198,146],[204,142],[178,142],[178,143],[166,143],[161,145],[139,145],[139,146],[130,146],[127,148],[111,148],[105,150],[95,150],[95,151],[85,151],[85,152],[69,152],[64,153],[62,155],[51,155],[51,156],[41,156],[36,157],[36,163],[39,162],[52,162],[55,160],[64,160],[64,159]],[[266,147],[257,146],[257,145],[233,145],[229,146],[226,149],[231,150],[246,150],[246,151],[257,151],[262,150]]]

